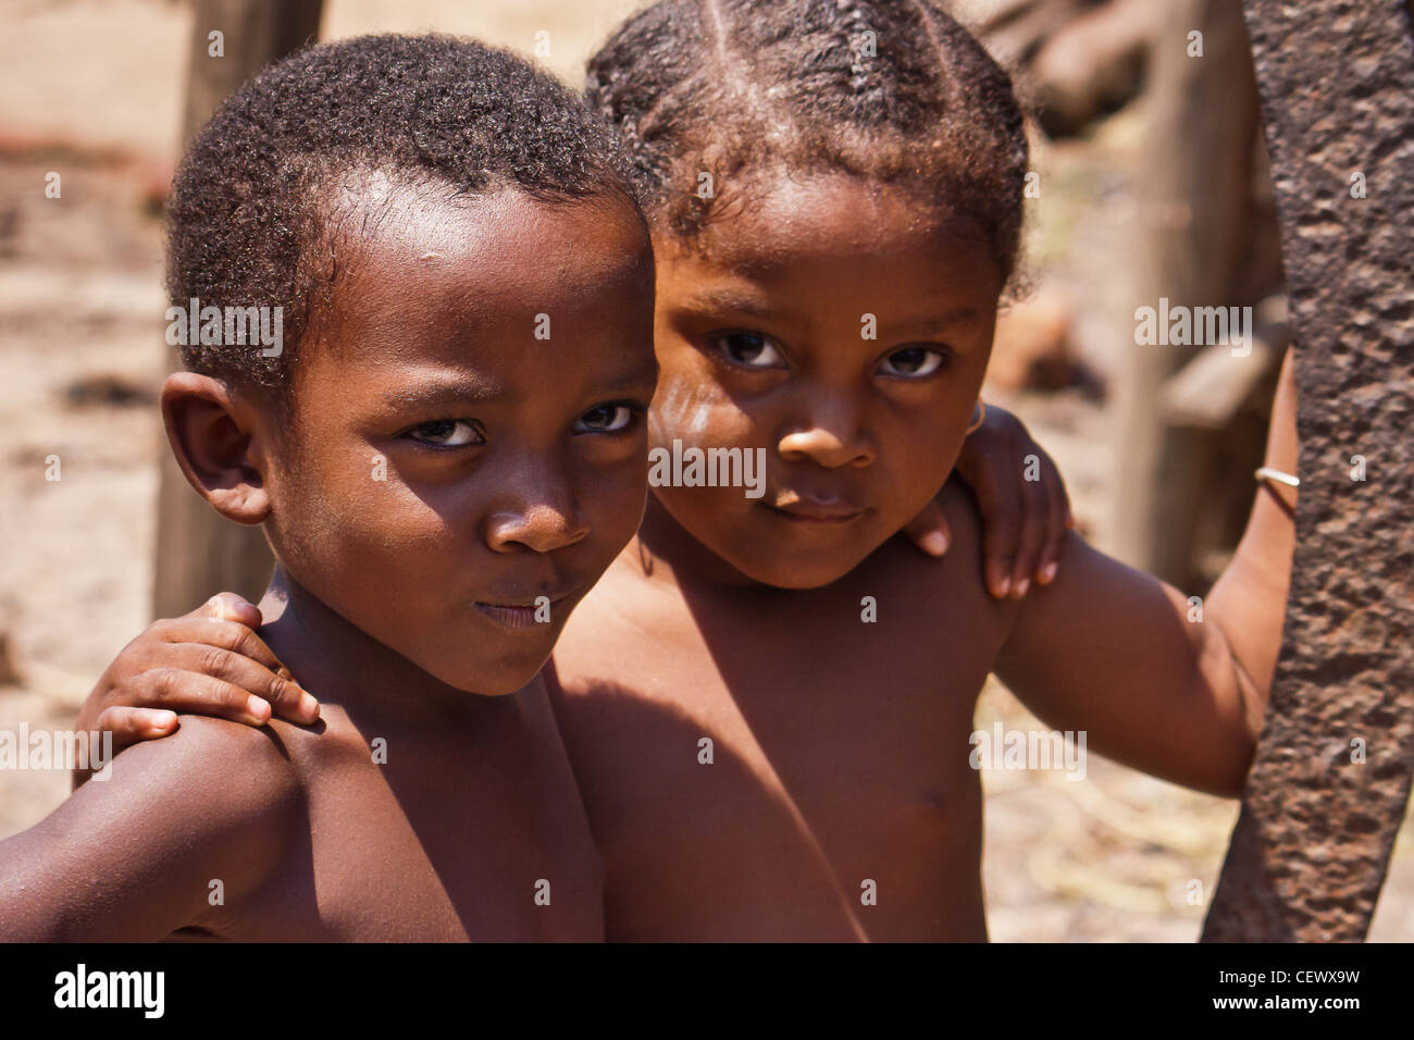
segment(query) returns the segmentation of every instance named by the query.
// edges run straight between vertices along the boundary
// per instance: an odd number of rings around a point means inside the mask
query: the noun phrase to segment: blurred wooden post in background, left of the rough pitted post
[[[1202,34],[1202,57],[1192,54],[1192,33]],[[1135,306],[1239,303],[1230,297],[1249,219],[1257,93],[1237,3],[1169,0],[1152,55]],[[1220,436],[1162,422],[1161,392],[1199,349],[1133,345],[1118,393],[1113,552],[1182,589],[1198,580],[1192,546]]]

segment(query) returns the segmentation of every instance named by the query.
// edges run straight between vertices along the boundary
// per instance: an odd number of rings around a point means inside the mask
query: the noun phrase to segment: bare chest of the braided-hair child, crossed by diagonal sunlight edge
[[[592,662],[561,642],[609,938],[986,937],[967,739],[987,632],[936,608],[885,627],[888,597],[872,620],[861,599],[641,617]]]

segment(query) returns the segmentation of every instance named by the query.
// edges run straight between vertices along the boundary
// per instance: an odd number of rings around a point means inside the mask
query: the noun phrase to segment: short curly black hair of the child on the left
[[[547,202],[632,202],[629,166],[602,120],[509,51],[447,35],[312,47],[221,106],[168,205],[173,306],[283,307],[283,352],[188,342],[187,368],[288,403],[301,341],[345,266],[329,195],[361,170],[448,198],[513,185]]]

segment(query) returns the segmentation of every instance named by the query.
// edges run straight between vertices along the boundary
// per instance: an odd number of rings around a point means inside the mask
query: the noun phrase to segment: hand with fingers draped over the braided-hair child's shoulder
[[[1065,533],[1075,526],[1065,481],[1051,456],[1010,412],[987,406],[954,467],[977,497],[987,590],[1019,600],[1031,583],[1051,584]],[[930,556],[947,552],[952,532],[935,498],[905,528]]]

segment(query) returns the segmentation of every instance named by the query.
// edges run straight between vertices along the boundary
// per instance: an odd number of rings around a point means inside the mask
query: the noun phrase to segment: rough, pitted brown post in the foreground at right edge
[[[1297,342],[1285,638],[1205,941],[1363,940],[1414,773],[1406,0],[1246,0]]]

